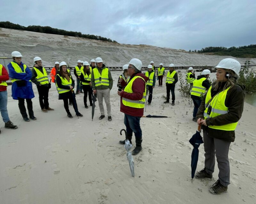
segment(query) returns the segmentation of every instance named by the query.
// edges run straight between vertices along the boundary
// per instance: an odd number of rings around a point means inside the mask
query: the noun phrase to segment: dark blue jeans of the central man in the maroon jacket
[[[126,126],[128,139],[132,139],[132,132],[134,132],[136,146],[141,146],[142,131],[140,128],[140,117],[127,115],[124,113],[124,125]]]

